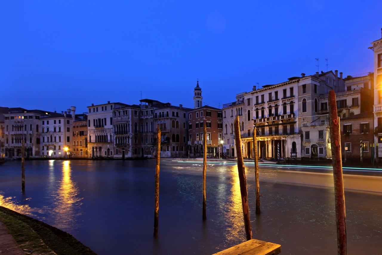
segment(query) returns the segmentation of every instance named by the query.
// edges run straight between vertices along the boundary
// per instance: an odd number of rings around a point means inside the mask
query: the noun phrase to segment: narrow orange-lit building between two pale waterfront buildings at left
[[[76,114],[73,121],[73,153],[71,157],[87,158],[87,115]]]

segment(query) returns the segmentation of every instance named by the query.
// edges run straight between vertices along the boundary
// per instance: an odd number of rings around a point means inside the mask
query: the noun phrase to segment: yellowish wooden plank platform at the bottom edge
[[[251,239],[213,255],[276,255],[281,252],[281,245]]]

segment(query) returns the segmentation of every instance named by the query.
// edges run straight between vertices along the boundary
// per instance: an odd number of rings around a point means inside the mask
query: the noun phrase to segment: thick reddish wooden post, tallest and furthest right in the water
[[[340,122],[334,90],[329,91],[329,129],[332,146],[332,164],[334,177],[335,215],[337,224],[337,252],[346,254],[346,212],[343,191]]]

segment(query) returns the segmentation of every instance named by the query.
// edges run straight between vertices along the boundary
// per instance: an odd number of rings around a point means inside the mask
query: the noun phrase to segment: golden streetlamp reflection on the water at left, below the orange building
[[[82,198],[78,198],[79,190],[75,182],[71,180],[70,161],[65,160],[62,165],[62,180],[58,186],[56,198],[53,203],[53,215],[56,226],[63,230],[79,227],[76,219],[81,215],[79,206]]]

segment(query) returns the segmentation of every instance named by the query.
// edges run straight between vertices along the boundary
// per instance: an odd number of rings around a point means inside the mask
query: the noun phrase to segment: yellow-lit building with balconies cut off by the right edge
[[[382,157],[382,37],[371,45],[369,49],[374,52],[374,141],[379,144],[377,157]]]

